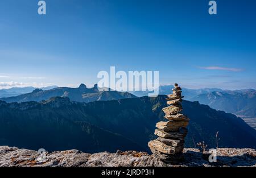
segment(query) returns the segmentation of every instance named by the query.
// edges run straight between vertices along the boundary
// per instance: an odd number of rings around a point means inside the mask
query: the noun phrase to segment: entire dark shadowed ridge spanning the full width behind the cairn
[[[85,152],[149,151],[155,124],[163,120],[166,96],[95,101],[88,104],[68,98],[0,102],[0,145],[48,151],[76,148]],[[183,102],[189,133],[186,147],[204,140],[208,147],[256,148],[256,131],[241,118],[216,111],[199,102]],[[192,139],[193,135],[193,139]]]

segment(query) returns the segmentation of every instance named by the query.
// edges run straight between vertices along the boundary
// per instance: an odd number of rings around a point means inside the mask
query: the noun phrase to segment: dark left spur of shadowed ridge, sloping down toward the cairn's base
[[[56,98],[42,104],[1,102],[0,145],[48,151],[142,149],[122,135],[85,122],[83,107],[82,104],[72,104],[68,98]]]

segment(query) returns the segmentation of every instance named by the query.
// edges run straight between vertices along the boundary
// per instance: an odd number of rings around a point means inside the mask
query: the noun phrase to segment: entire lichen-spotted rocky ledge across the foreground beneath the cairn
[[[43,152],[0,146],[0,166],[26,167],[73,167],[73,166],[256,166],[256,150],[250,148],[218,148],[217,162],[209,163],[201,152],[194,148],[184,148],[184,159],[180,163],[165,164],[154,155],[137,151],[117,151],[116,153],[101,152],[86,154],[77,150]]]

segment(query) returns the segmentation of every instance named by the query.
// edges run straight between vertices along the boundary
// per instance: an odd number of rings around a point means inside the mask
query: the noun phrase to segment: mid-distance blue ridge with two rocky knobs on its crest
[[[31,93],[22,94],[16,97],[0,98],[6,102],[27,102],[27,101],[42,101],[48,100],[51,97],[68,97],[71,101],[78,102],[92,102],[92,101],[106,101],[119,100],[122,98],[135,98],[133,94],[123,93],[117,91],[104,90],[99,91],[97,85],[93,88],[87,88],[86,85],[81,84],[79,88],[59,87],[50,90],[35,89]]]

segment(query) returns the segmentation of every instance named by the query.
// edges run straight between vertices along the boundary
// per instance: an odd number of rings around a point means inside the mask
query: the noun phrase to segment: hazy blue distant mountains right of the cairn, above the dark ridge
[[[191,100],[241,117],[256,117],[256,90],[211,92]]]

